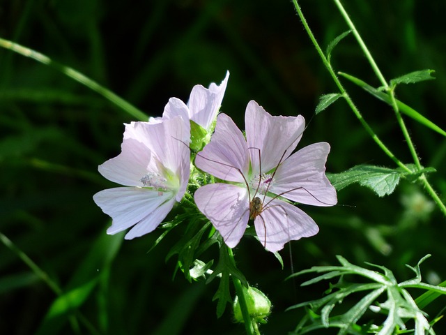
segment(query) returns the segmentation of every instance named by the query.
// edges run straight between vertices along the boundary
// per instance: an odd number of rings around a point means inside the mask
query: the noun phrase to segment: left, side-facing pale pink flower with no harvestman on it
[[[127,187],[93,196],[113,218],[107,234],[133,226],[125,239],[147,234],[169,214],[186,191],[190,175],[190,125],[181,117],[158,124],[125,125],[121,154],[99,165],[105,178]]]

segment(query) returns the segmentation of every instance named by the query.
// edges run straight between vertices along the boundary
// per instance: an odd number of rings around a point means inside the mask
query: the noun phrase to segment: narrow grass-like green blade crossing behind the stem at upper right
[[[353,77],[353,75],[348,75],[346,73],[341,73],[341,72],[339,73],[339,75],[341,75],[342,77],[345,77],[346,79],[350,80],[354,84],[357,84],[357,86],[362,87],[362,89],[369,92],[369,94],[371,94],[372,96],[380,99],[381,101],[384,101],[385,103],[387,103],[389,105],[392,105],[392,99],[390,98],[390,96],[388,96],[388,94],[385,94],[384,92],[382,92],[378,89],[375,89],[374,87],[370,86],[366,82],[363,82],[362,80],[360,80],[356,77]],[[439,126],[434,124],[429,119],[426,119],[426,117],[423,117],[422,114],[420,114],[419,112],[414,110],[412,107],[409,107],[408,105],[406,105],[405,103],[402,103],[398,99],[395,99],[395,101],[397,102],[397,107],[400,112],[402,112],[403,114],[406,114],[408,117],[411,117],[412,119],[419,122],[423,126],[426,126],[427,128],[431,128],[433,131],[436,131],[437,133],[440,133],[441,135],[446,136],[446,131],[444,131],[442,128],[440,128]]]

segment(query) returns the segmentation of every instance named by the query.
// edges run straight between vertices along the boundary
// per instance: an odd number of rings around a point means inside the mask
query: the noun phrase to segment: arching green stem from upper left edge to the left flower
[[[5,49],[17,52],[17,54],[21,54],[24,57],[29,57],[31,59],[34,59],[35,61],[38,61],[39,63],[50,66],[60,71],[64,75],[67,75],[71,79],[85,85],[86,87],[89,87],[93,91],[102,95],[104,98],[111,101],[114,105],[120,107],[122,110],[130,114],[132,117],[138,119],[139,121],[148,120],[148,116],[144,114],[144,112],[139,110],[137,107],[134,107],[134,105],[131,105],[123,98],[117,96],[112,91],[109,91],[109,89],[102,87],[97,82],[91,80],[89,77],[86,77],[85,75],[79,73],[77,70],[73,68],[70,68],[68,66],[63,66],[62,64],[59,64],[56,61],[52,61],[52,59],[45,56],[44,54],[40,54],[39,52],[36,52],[27,47],[14,43],[10,40],[5,40],[3,38],[0,38],[0,47],[4,47]]]

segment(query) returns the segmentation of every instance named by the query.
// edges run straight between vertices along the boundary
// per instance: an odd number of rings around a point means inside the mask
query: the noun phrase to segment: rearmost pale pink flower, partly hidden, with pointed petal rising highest
[[[218,86],[215,83],[211,83],[209,88],[206,89],[201,85],[195,85],[190,92],[187,105],[178,98],[170,98],[166,107],[164,107],[162,117],[152,117],[149,122],[157,123],[180,115],[185,120],[192,120],[199,124],[206,131],[211,131],[213,121],[215,121],[222,105],[228,79],[229,71],[226,72],[226,77]]]

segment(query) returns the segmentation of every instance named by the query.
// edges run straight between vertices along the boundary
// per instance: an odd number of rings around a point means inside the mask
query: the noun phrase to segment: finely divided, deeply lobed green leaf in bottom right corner
[[[311,269],[303,270],[292,275],[291,277],[309,273],[324,273],[321,276],[305,281],[305,283],[302,283],[302,286],[339,277],[339,281],[331,284],[330,289],[325,292],[325,297],[296,304],[289,308],[294,309],[309,306],[312,310],[312,313],[309,315],[310,318],[307,318],[310,321],[310,325],[299,325],[293,334],[306,334],[316,329],[333,327],[339,328],[338,335],[365,334],[365,332],[368,334],[392,335],[398,334],[400,329],[405,330],[406,323],[410,319],[415,322],[415,334],[435,334],[431,324],[426,319],[426,313],[418,308],[413,297],[407,290],[407,288],[422,288],[446,295],[446,288],[422,283],[420,264],[429,256],[426,255],[422,258],[416,267],[407,265],[415,272],[415,278],[401,283],[397,282],[392,271],[386,267],[367,263],[383,272],[373,271],[353,265],[341,256],[337,256],[341,266],[312,267]],[[346,281],[346,277],[349,275],[362,276],[371,282],[351,283]],[[337,305],[341,304],[353,293],[362,291],[371,292],[364,295],[351,308],[348,308],[348,311],[332,316],[332,312]],[[378,302],[378,298],[384,294],[387,299],[384,302]],[[359,325],[359,320],[367,311],[383,313],[387,317],[382,324]],[[320,315],[317,313],[320,313]]]

